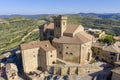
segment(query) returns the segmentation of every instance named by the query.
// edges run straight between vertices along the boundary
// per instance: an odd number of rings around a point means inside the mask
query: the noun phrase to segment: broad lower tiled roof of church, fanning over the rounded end
[[[89,41],[92,41],[92,36],[85,32],[79,32],[74,37],[62,36],[60,38],[53,39],[53,42],[57,43],[74,43],[74,44],[83,44]]]

